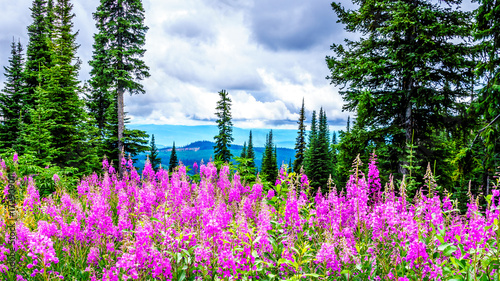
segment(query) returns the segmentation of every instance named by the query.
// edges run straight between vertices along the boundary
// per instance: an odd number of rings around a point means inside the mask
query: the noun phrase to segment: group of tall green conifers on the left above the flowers
[[[99,169],[106,156],[116,165],[122,151],[147,149],[148,135],[127,130],[124,93],[144,93],[148,77],[141,1],[101,1],[93,13],[97,34],[90,80],[78,80],[78,32],[70,0],[34,0],[26,53],[12,42],[0,95],[0,150],[32,156],[34,165],[59,166],[72,174]],[[116,165],[118,166],[118,165]]]

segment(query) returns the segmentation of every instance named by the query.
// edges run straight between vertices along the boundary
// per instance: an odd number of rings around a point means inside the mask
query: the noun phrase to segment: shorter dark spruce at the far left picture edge
[[[9,66],[4,67],[4,88],[0,93],[0,149],[19,149],[23,112],[23,48],[12,41]]]

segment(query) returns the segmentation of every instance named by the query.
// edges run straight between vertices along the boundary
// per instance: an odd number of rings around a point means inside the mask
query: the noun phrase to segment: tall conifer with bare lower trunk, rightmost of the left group
[[[125,92],[131,95],[145,93],[138,81],[149,77],[149,68],[142,60],[148,28],[144,25],[144,8],[140,0],[102,0],[93,16],[98,33],[94,36],[94,53],[89,64],[93,67],[90,84],[96,88],[92,89],[89,107],[96,114],[98,126],[110,124],[111,141],[116,139],[114,154],[121,163],[125,151],[123,95]],[[108,106],[107,114],[116,106],[116,118],[114,114],[98,115],[101,113],[96,110],[99,104]],[[103,122],[103,118],[107,122]],[[121,175],[122,166],[118,166]]]

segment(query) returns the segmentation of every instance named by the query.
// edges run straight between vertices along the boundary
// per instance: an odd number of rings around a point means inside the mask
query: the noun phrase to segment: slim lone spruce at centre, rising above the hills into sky
[[[215,146],[214,153],[215,159],[223,163],[229,163],[231,160],[231,142],[234,140],[233,122],[231,121],[231,99],[226,90],[219,92],[220,100],[217,102],[215,115],[217,116],[217,127],[219,134],[214,137]]]

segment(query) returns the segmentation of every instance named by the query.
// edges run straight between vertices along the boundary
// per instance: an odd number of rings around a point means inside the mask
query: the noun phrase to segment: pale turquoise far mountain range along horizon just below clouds
[[[150,136],[155,135],[156,145],[161,147],[171,147],[175,142],[176,147],[186,146],[198,141],[214,141],[214,136],[219,133],[215,125],[204,126],[184,126],[184,125],[127,125],[130,129],[146,131]],[[233,144],[243,146],[248,141],[248,135],[252,130],[252,141],[254,147],[264,147],[266,135],[269,129],[242,129],[233,127]],[[273,142],[277,147],[295,147],[297,130],[273,129]]]

